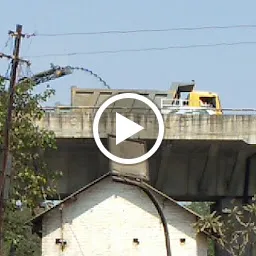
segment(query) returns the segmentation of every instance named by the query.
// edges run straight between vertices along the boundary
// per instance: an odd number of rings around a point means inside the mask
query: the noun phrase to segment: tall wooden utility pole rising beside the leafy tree
[[[9,85],[9,95],[8,95],[8,107],[6,121],[4,125],[4,141],[3,141],[3,159],[2,159],[2,170],[0,172],[0,256],[3,256],[3,224],[4,224],[4,210],[5,210],[5,183],[7,176],[7,167],[9,160],[9,151],[10,151],[10,132],[12,129],[12,110],[13,110],[13,101],[15,93],[15,84],[17,79],[17,68],[19,65],[19,53],[20,53],[20,44],[21,38],[25,35],[22,34],[22,25],[16,25],[16,32],[9,31],[9,35],[15,37],[13,56],[11,57],[11,74],[10,74],[10,85]],[[4,56],[5,57],[5,56]],[[10,178],[10,174],[9,178]],[[9,190],[9,189],[8,189]]]

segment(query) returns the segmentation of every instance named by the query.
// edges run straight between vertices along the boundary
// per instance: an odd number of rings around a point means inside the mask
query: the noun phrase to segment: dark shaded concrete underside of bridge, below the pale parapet
[[[108,147],[106,139],[103,143]],[[147,147],[153,143],[147,140]],[[59,182],[63,196],[110,170],[93,139],[62,138],[58,146],[46,159],[64,173]],[[177,200],[218,200],[256,192],[256,147],[242,141],[165,140],[148,165],[149,183]]]

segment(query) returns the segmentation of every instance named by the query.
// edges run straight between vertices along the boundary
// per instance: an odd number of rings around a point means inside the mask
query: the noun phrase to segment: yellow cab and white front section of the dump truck
[[[222,115],[218,94],[196,91],[195,82],[172,83],[167,98],[161,99],[163,114]]]

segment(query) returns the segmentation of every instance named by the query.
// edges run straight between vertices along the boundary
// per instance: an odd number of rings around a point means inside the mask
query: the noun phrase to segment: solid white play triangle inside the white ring
[[[116,113],[116,145],[143,129],[144,127]]]

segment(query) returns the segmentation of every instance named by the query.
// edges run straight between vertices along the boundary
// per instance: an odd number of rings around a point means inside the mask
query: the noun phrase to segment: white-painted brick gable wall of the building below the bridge
[[[197,236],[196,242],[195,216],[169,200],[157,199],[169,223],[172,256],[206,256],[205,236]],[[67,241],[63,252],[55,244],[62,236]],[[59,208],[46,214],[42,243],[43,256],[166,255],[163,227],[150,199],[137,187],[110,178],[70,200],[62,214]]]

